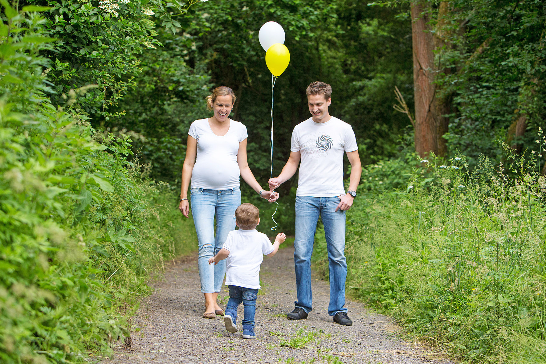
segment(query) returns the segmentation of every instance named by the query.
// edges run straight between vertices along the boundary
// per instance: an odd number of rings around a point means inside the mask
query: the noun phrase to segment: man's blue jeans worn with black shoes
[[[328,266],[330,272],[330,304],[328,314],[347,312],[345,306],[345,280],[347,261],[345,259],[345,211],[335,209],[339,197],[296,197],[296,237],[294,240],[294,267],[296,271],[296,307],[305,312],[312,310],[311,292],[311,254],[313,253],[314,233],[317,230],[318,216],[322,218],[328,247]]]

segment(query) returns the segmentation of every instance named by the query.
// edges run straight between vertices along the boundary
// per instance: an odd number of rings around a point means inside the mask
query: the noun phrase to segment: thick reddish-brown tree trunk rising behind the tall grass
[[[413,88],[415,93],[415,149],[421,157],[430,152],[443,156],[447,152],[446,139],[448,119],[442,116],[449,113],[448,99],[438,99],[435,75],[439,67],[434,61],[435,47],[443,46],[442,36],[434,37],[430,21],[428,2],[411,4],[412,44],[413,44]],[[440,4],[440,15],[448,11],[447,2]],[[442,24],[438,24],[441,28]]]

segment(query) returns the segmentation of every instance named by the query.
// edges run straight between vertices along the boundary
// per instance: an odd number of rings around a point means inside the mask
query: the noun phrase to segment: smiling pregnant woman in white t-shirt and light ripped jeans
[[[205,295],[203,317],[207,319],[224,314],[216,300],[225,275],[225,260],[209,265],[209,258],[222,249],[228,232],[235,230],[235,209],[241,204],[239,176],[269,202],[278,198],[278,193],[262,189],[248,167],[246,127],[228,118],[235,99],[233,90],[225,86],[207,96],[207,107],[214,114],[195,120],[189,127],[182,167],[179,209],[189,217],[187,193],[191,180],[192,215],[199,240],[199,278]]]

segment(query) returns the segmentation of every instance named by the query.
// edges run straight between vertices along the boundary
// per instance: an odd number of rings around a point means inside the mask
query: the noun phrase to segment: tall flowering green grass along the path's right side
[[[546,179],[506,150],[507,169],[431,158],[404,190],[362,189],[348,213],[347,288],[465,361],[544,363]]]

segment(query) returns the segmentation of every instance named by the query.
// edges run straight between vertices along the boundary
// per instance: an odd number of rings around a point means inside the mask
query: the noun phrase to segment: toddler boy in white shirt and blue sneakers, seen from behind
[[[235,224],[239,230],[230,231],[223,248],[209,264],[227,260],[225,285],[229,286],[229,301],[225,308],[225,328],[237,332],[237,308],[242,302],[245,310],[242,320],[242,337],[256,339],[254,334],[254,314],[256,313],[256,296],[260,288],[260,265],[264,255],[274,256],[278,246],[286,240],[284,233],[277,234],[275,243],[271,244],[264,233],[256,230],[260,223],[260,210],[251,203],[244,203],[235,210]]]

